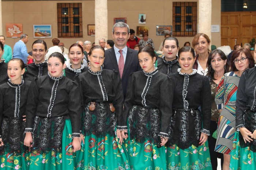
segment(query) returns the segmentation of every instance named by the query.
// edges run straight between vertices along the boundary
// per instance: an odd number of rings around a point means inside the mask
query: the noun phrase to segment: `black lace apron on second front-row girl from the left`
[[[33,148],[38,152],[47,153],[51,150],[61,152],[62,134],[68,116],[44,118],[35,116]]]

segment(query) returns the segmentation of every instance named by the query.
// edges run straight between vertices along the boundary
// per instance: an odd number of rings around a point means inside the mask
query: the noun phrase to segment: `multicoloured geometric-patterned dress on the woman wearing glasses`
[[[224,74],[215,96],[217,108],[222,109],[218,120],[215,151],[230,154],[236,128],[236,94],[240,77],[233,71]]]

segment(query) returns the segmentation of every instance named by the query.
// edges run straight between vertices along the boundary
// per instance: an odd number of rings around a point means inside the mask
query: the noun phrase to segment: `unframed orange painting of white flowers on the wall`
[[[22,24],[5,24],[6,37],[20,37],[23,34]]]

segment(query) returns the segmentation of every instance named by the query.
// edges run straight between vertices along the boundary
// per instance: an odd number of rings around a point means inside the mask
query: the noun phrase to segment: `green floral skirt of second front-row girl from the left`
[[[72,152],[71,135],[71,122],[70,119],[66,119],[62,136],[62,151],[60,153],[54,150],[48,153],[31,151],[26,157],[29,170],[73,170],[75,155]]]

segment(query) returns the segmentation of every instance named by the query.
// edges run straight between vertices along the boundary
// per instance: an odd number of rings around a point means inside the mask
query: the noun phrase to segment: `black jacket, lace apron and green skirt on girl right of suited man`
[[[169,138],[173,85],[170,77],[157,69],[130,75],[124,103],[128,117],[129,160],[133,170],[166,169],[166,147],[157,147],[160,137]],[[127,125],[123,122],[123,125]]]

